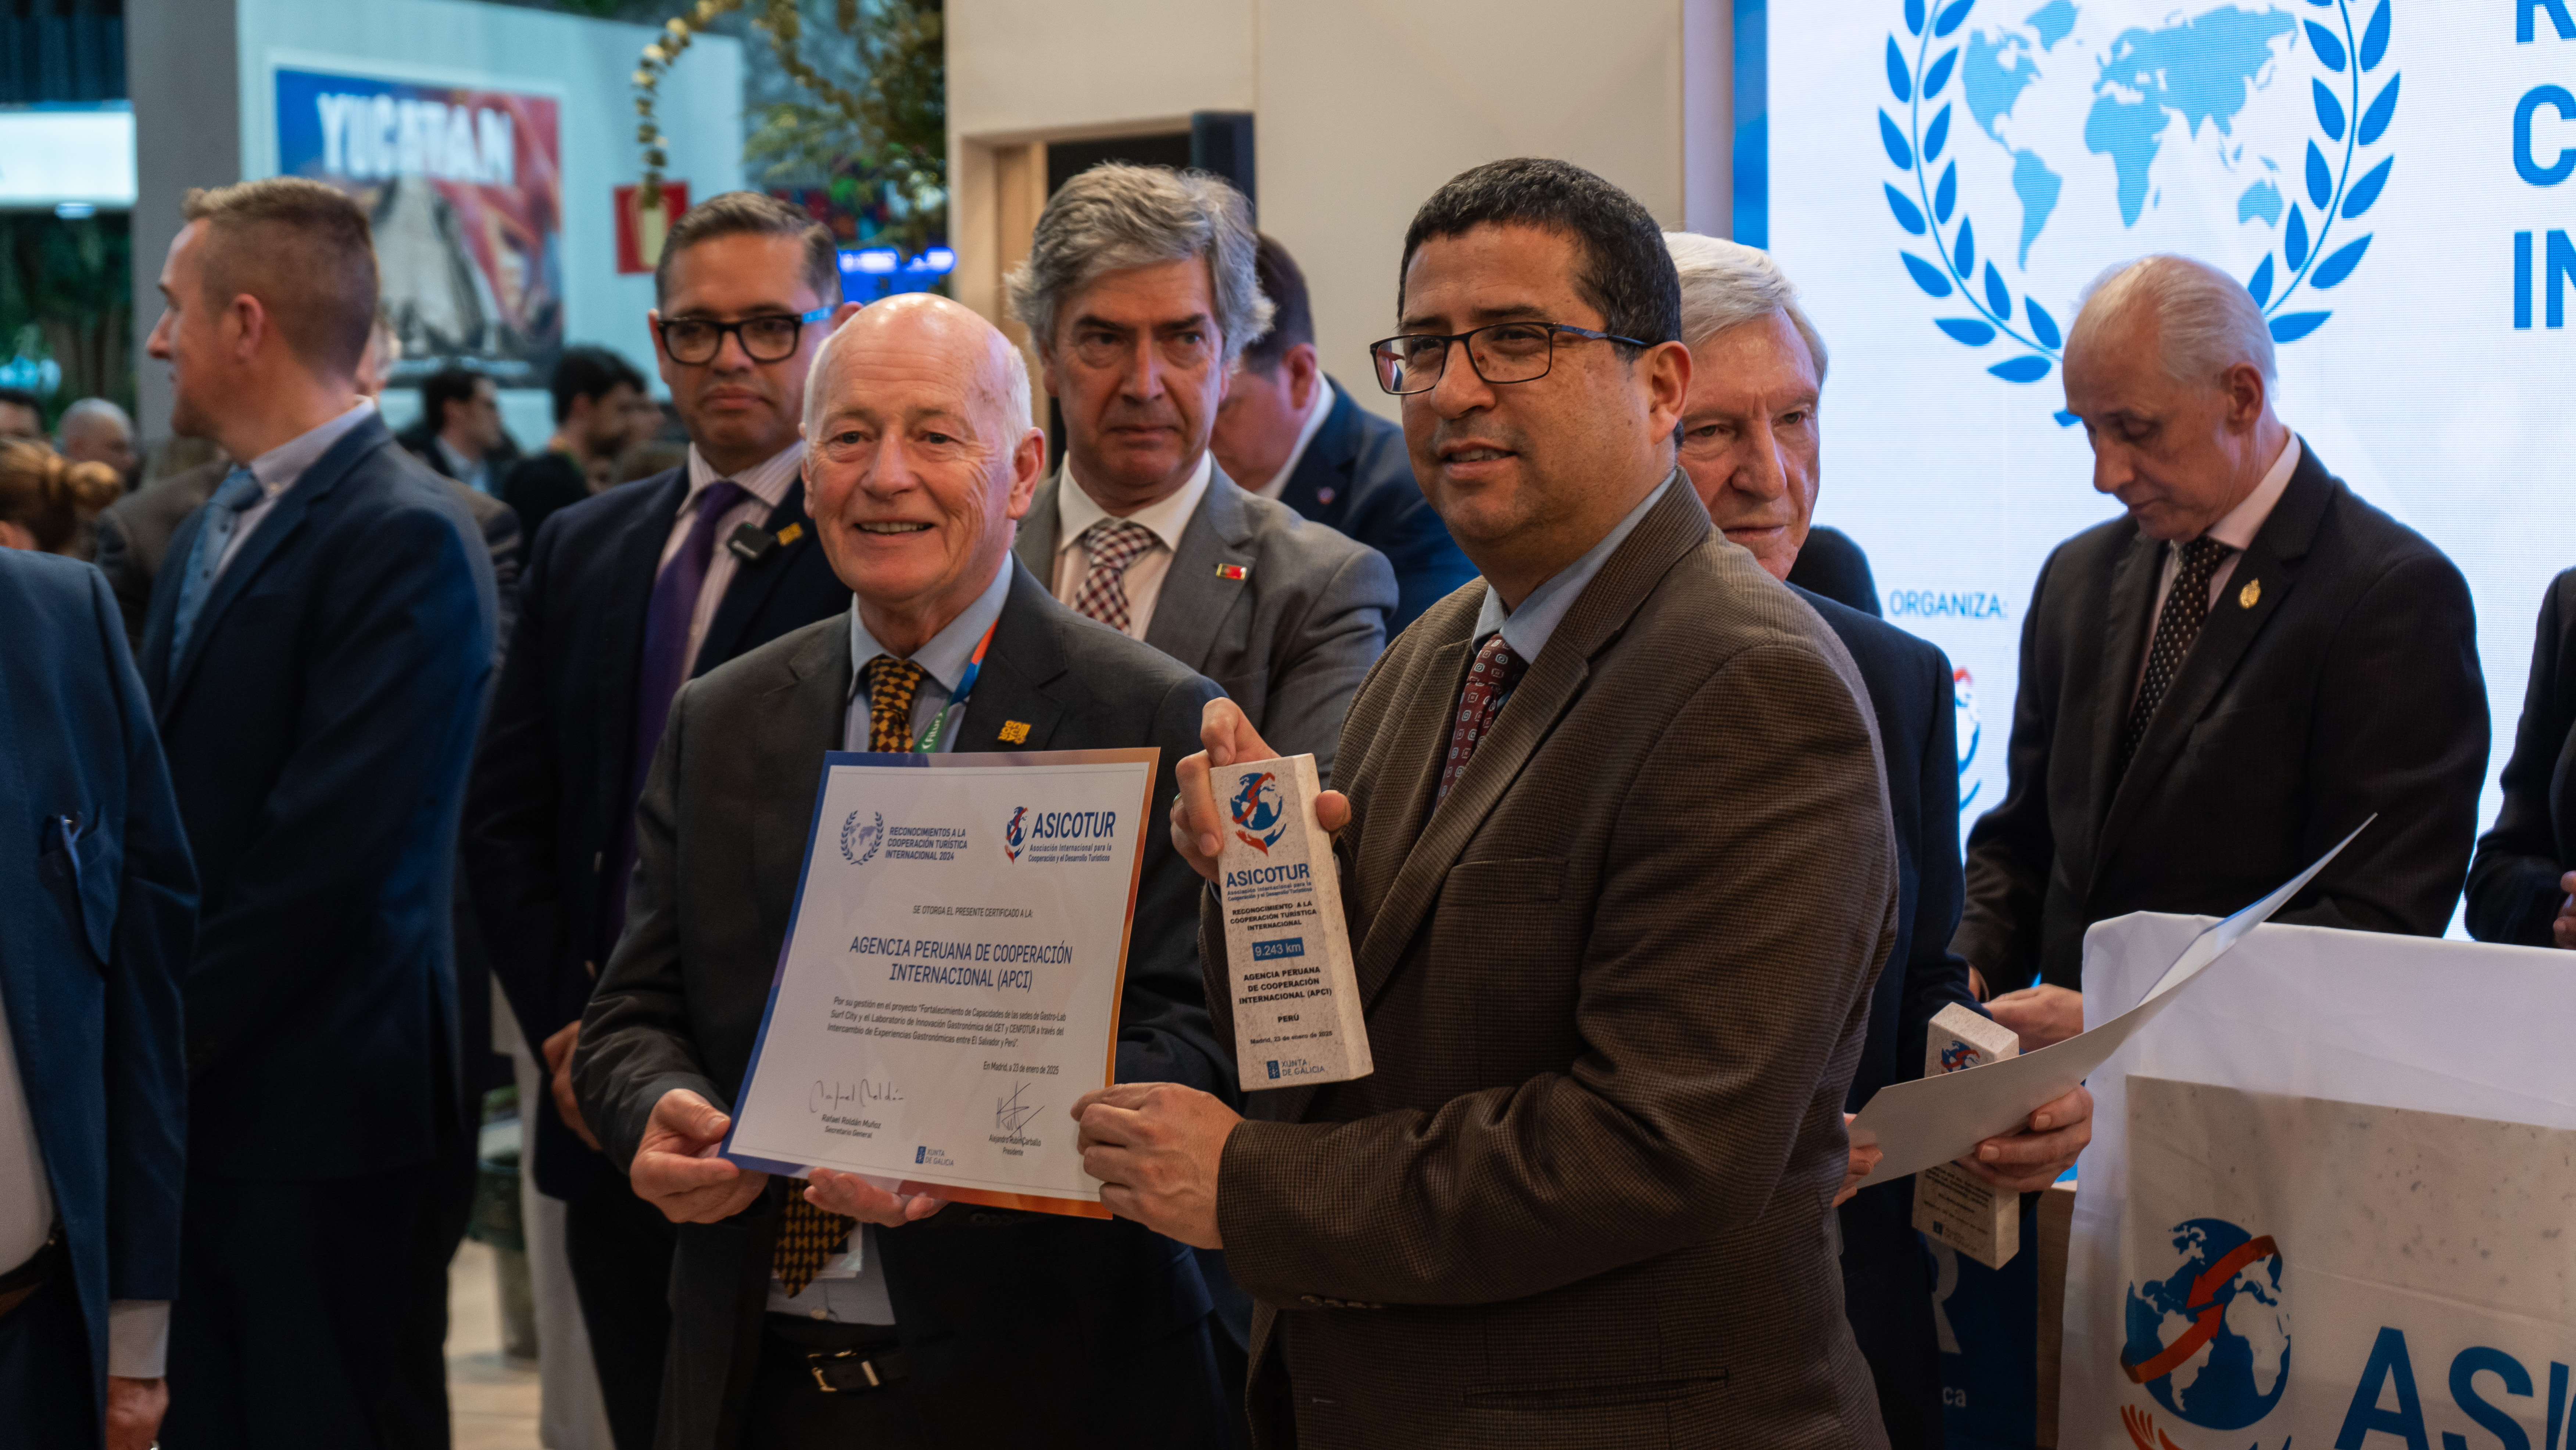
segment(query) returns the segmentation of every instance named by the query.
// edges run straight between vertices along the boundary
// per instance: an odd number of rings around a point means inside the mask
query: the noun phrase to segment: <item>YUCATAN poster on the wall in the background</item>
[[[556,100],[278,67],[278,173],[355,196],[376,224],[397,381],[469,363],[546,386],[564,345]]]

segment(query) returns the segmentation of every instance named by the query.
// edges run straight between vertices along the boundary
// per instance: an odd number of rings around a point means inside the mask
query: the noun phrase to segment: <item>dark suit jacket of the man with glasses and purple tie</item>
[[[634,770],[636,667],[662,546],[688,497],[672,469],[559,510],[536,536],[518,639],[492,690],[492,719],[466,791],[466,878],[510,1010],[536,1046],[590,1002],[603,891]],[[768,520],[793,543],[739,564],[698,644],[696,672],[850,608],[850,587],[814,541],[804,487]],[[536,1182],[556,1198],[626,1192],[538,1095]]]

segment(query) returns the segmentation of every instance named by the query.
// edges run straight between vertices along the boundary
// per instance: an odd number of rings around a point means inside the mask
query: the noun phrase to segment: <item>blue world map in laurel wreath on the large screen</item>
[[[2324,327],[2396,167],[2393,5],[1901,0],[1880,191],[1932,325],[2035,384],[2102,268],[2182,252]]]

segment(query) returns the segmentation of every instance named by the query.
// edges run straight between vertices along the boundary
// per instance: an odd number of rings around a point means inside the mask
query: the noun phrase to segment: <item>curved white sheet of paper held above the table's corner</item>
[[[2375,822],[2378,816],[2370,819]],[[1860,1107],[1860,1118],[1852,1120],[1852,1141],[1860,1146],[1875,1144],[1883,1154],[1870,1177],[1860,1182],[1893,1182],[1932,1164],[1945,1164],[1986,1138],[2012,1133],[2032,1113],[2074,1092],[2092,1069],[2102,1066],[2110,1053],[2146,1030],[2184,986],[2226,956],[2228,948],[2241,943],[2246,932],[2269,919],[2272,912],[2280,912],[2290,896],[2298,896],[2365,829],[2370,829],[2370,822],[2354,827],[2316,865],[2300,871],[2262,901],[2192,937],[2192,945],[2174,958],[2174,966],[2164,968],[2156,986],[2110,1022],[2017,1059],[1880,1087]]]

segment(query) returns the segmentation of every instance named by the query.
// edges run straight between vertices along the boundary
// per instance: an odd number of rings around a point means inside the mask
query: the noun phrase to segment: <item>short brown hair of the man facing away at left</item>
[[[193,188],[178,214],[206,224],[204,301],[260,299],[294,355],[355,373],[376,330],[376,240],[353,196],[301,175]]]

